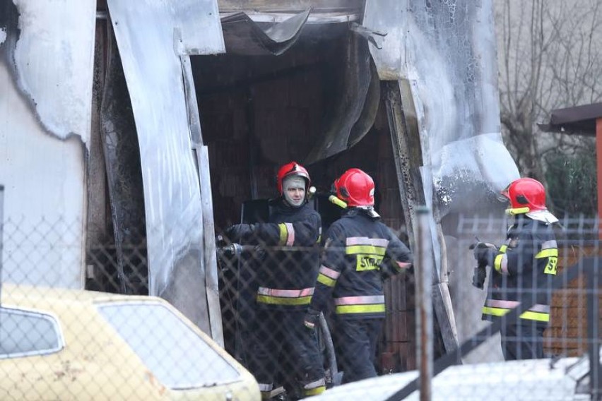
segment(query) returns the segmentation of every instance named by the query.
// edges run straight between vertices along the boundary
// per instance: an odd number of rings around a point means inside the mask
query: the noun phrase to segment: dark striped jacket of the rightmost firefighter
[[[509,324],[535,321],[545,327],[550,321],[550,286],[558,260],[553,228],[519,215],[506,238],[493,261],[483,320],[504,316],[524,302],[529,309]]]

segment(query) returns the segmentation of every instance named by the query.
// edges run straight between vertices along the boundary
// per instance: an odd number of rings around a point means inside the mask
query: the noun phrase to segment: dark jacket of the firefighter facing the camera
[[[320,215],[307,203],[291,208],[278,201],[269,221],[239,225],[242,244],[259,245],[256,304],[267,309],[307,309],[319,266]]]

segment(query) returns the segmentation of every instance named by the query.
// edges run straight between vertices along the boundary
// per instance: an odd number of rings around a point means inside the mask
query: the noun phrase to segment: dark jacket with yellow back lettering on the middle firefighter
[[[331,225],[310,309],[321,311],[334,297],[341,318],[384,317],[383,275],[411,267],[412,256],[379,220],[350,209]]]

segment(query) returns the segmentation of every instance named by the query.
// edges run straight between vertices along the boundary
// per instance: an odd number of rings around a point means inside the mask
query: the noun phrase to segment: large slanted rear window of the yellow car
[[[240,380],[228,360],[166,306],[101,304],[100,314],[163,385],[196,388]]]

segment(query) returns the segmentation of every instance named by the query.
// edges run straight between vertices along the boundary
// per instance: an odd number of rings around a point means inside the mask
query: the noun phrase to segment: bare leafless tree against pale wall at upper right
[[[538,132],[552,109],[602,99],[602,0],[495,0],[500,119],[519,171],[545,183],[548,152],[591,138]]]

